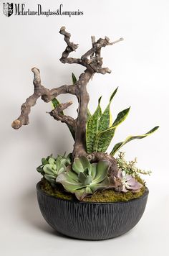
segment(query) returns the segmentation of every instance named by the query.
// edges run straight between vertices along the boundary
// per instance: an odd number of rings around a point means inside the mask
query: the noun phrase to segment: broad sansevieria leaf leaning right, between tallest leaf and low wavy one
[[[120,113],[117,114],[117,118],[115,119],[115,122],[113,122],[112,127],[106,129],[105,131],[97,133],[94,151],[105,152],[107,150],[107,147],[109,147],[110,142],[112,141],[112,138],[115,135],[115,129],[119,124],[121,124],[126,119],[129,111],[130,108],[120,111]]]

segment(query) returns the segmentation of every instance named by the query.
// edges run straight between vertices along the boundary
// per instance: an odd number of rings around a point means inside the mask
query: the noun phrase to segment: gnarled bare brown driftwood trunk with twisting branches
[[[79,79],[74,85],[64,85],[49,90],[42,86],[39,69],[32,68],[32,72],[34,73],[34,93],[32,94],[32,96],[26,99],[24,104],[22,104],[21,114],[18,119],[16,119],[12,123],[12,127],[14,129],[19,129],[22,125],[29,124],[29,113],[31,111],[31,107],[36,104],[37,99],[39,99],[40,97],[43,101],[49,102],[62,93],[71,93],[77,96],[77,100],[79,102],[77,119],[73,119],[71,116],[65,116],[63,114],[63,110],[70,106],[72,102],[59,104],[59,106],[49,112],[49,114],[53,116],[54,119],[66,123],[69,129],[72,131],[75,140],[72,156],[78,157],[80,155],[87,155],[85,137],[87,123],[87,106],[90,100],[89,94],[87,93],[87,83],[90,81],[92,76],[95,75],[95,73],[105,74],[111,72],[109,68],[102,67],[101,50],[102,47],[105,47],[107,45],[113,45],[116,42],[122,41],[122,38],[114,42],[110,42],[110,39],[108,37],[105,37],[105,39],[100,38],[96,41],[95,37],[92,36],[92,48],[90,50],[87,50],[87,52],[85,52],[84,55],[82,55],[80,58],[70,58],[69,54],[77,50],[78,45],[74,44],[74,42],[70,42],[71,35],[65,30],[65,27],[61,27],[59,33],[64,36],[64,41],[67,44],[64,52],[62,52],[62,57],[60,58],[60,61],[62,63],[82,65],[85,67],[85,70],[79,76]],[[92,157],[91,160],[98,160],[100,157],[104,156],[102,154],[95,154],[94,152],[94,155],[90,155],[89,157]]]

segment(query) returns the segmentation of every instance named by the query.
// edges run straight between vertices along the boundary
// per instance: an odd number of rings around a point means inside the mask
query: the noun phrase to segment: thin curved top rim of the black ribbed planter
[[[131,203],[132,201],[138,201],[142,198],[145,198],[146,196],[148,196],[148,193],[149,193],[149,189],[147,187],[145,187],[145,193],[143,193],[142,196],[138,197],[138,198],[133,198],[133,199],[130,199],[128,201],[116,201],[116,202],[85,202],[85,201],[75,201],[75,200],[67,200],[67,199],[64,199],[64,198],[57,198],[56,196],[50,196],[48,195],[47,193],[45,193],[44,191],[42,191],[42,189],[40,188],[40,183],[42,182],[42,180],[40,180],[38,183],[37,183],[37,191],[39,191],[40,193],[42,193],[44,196],[49,196],[49,197],[52,197],[56,200],[59,200],[59,201],[67,201],[67,202],[70,202],[72,204],[97,204],[97,205],[100,205],[100,204],[129,204]]]

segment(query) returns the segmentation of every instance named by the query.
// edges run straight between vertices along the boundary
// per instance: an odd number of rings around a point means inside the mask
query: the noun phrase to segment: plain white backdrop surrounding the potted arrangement
[[[5,17],[0,1],[0,254],[6,255],[168,255],[168,61],[169,1],[16,1],[26,8],[84,12],[81,17]],[[126,157],[138,157],[140,168],[153,170],[148,181],[150,196],[143,218],[129,233],[101,242],[78,241],[53,232],[39,212],[35,185],[42,157],[71,152],[73,140],[65,124],[54,121],[46,111],[50,104],[39,100],[32,108],[30,124],[19,130],[11,122],[19,116],[24,100],[33,91],[34,66],[41,70],[42,84],[54,88],[71,83],[83,68],[59,62],[65,42],[59,28],[65,25],[72,41],[79,43],[79,57],[91,47],[90,36],[110,37],[123,42],[102,49],[105,67],[112,73],[96,74],[88,86],[90,109],[102,95],[102,107],[112,91],[119,90],[112,103],[112,115],[132,106],[119,127],[110,150],[129,134],[143,134],[156,125],[158,132],[124,147]],[[76,115],[73,100],[67,113]]]

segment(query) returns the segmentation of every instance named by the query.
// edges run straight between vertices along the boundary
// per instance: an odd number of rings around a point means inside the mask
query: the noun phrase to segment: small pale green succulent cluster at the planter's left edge
[[[70,163],[70,155],[67,157],[58,155],[57,158],[50,155],[47,158],[42,158],[42,165],[37,168],[37,171],[39,171],[52,186],[55,186],[57,175],[65,171],[67,165],[70,165]]]

